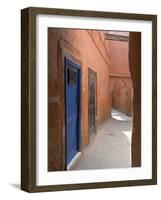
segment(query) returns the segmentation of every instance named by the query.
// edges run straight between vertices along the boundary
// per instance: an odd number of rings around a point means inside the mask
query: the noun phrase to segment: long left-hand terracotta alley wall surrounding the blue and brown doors
[[[60,170],[64,167],[63,56],[71,57],[82,66],[81,148],[83,148],[89,142],[88,67],[97,73],[97,125],[110,116],[109,51],[106,46],[101,31],[54,28],[48,30],[49,170]]]

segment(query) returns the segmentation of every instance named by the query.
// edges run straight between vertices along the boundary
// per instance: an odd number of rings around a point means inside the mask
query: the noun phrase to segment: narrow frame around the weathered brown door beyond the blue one
[[[90,67],[88,67],[88,141],[90,142],[91,139],[91,135],[90,135],[90,112],[89,112],[89,77],[90,74],[94,74],[96,77],[96,91],[95,91],[95,95],[96,95],[96,99],[95,99],[95,129],[94,129],[94,135],[97,134],[97,72],[95,72],[94,70],[92,70]]]

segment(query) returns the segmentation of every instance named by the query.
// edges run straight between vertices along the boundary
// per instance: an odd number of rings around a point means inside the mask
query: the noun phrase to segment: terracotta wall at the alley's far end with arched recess
[[[129,70],[128,41],[109,40],[111,107],[132,115],[133,86]]]

